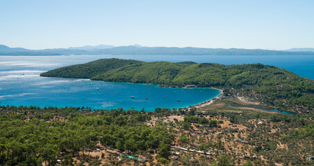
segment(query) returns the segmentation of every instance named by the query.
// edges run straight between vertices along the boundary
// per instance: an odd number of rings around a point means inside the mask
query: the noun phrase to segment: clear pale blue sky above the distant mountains
[[[0,44],[314,47],[314,1],[3,0]]]

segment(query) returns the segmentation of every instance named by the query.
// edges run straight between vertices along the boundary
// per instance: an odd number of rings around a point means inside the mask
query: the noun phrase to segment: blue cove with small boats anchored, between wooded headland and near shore
[[[29,77],[28,77],[29,76]],[[21,84],[23,82],[23,84]],[[123,108],[154,111],[182,108],[220,95],[216,89],[163,88],[158,85],[22,75],[2,83],[0,104],[38,107]],[[98,90],[97,90],[98,89]]]

